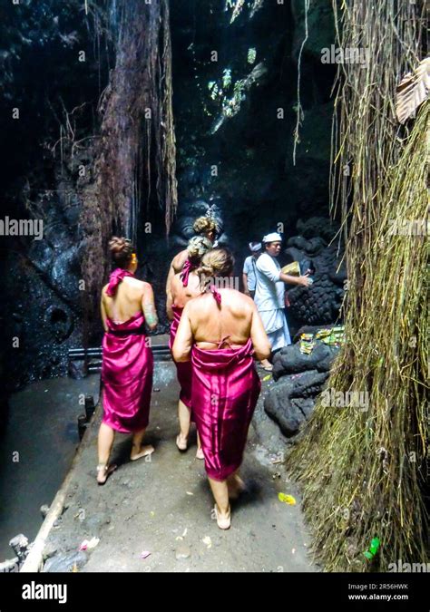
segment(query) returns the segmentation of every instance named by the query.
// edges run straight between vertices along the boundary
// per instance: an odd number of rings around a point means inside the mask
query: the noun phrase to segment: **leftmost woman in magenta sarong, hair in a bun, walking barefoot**
[[[149,422],[153,356],[145,336],[145,321],[152,330],[158,320],[149,283],[134,277],[137,257],[127,238],[109,243],[113,270],[102,290],[103,422],[98,439],[97,482],[104,484],[116,468],[109,465],[115,432],[132,433],[131,460],[153,452],[142,446]]]

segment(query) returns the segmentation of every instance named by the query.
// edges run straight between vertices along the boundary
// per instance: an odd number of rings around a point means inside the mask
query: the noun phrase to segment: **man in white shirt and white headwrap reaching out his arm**
[[[264,329],[269,337],[272,351],[291,344],[287,319],[285,316],[285,284],[311,284],[308,276],[291,277],[281,271],[277,257],[280,254],[282,237],[278,232],[272,232],[263,238],[265,252],[259,256],[256,263],[256,291],[254,301],[263,321]],[[261,362],[265,370],[273,366],[266,359]]]

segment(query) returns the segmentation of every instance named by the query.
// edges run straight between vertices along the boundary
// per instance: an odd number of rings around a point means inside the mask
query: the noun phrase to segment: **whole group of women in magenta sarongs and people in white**
[[[216,520],[220,529],[229,529],[230,500],[245,488],[239,467],[260,392],[255,359],[270,366],[272,350],[289,343],[285,283],[306,286],[308,278],[282,273],[276,260],[281,237],[269,234],[263,238],[265,253],[262,245],[251,243],[245,293],[230,288],[232,284],[225,287],[217,279],[232,277],[234,259],[227,248],[216,245],[215,221],[202,217],[193,227],[196,236],[173,258],[166,285],[171,355],[181,386],[176,445],[187,451],[195,423],[196,457],[204,460]],[[101,299],[105,334],[99,484],[116,468],[109,462],[115,432],[132,433],[132,461],[154,451],[142,444],[153,374],[145,324],[151,330],[158,324],[153,291],[134,276],[138,259],[130,240],[114,237],[110,250],[114,269]]]

